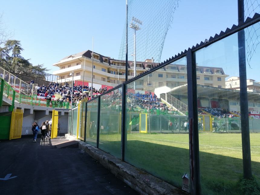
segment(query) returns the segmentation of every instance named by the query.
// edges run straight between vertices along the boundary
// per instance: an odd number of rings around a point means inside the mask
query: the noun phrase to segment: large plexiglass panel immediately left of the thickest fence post
[[[125,161],[179,188],[190,173],[186,61],[129,83],[126,94]]]

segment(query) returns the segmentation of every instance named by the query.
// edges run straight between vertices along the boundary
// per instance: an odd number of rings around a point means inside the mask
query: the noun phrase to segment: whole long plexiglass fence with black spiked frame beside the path
[[[256,15],[88,102],[83,99],[80,110],[71,111],[68,132],[190,194],[241,194],[241,179],[251,172],[259,185],[260,119],[248,118],[248,128],[242,118],[203,117],[196,103],[210,104],[213,112],[241,109],[248,116],[240,106],[240,91],[224,86],[228,75],[239,73],[241,32],[246,39],[259,21]],[[259,42],[256,34],[251,38]],[[250,64],[255,73],[260,73],[259,54],[257,47]],[[160,99],[165,90],[188,111],[165,96]],[[248,92],[247,101],[260,105],[259,93]],[[248,139],[242,138],[245,132]],[[251,156],[243,155],[245,147]],[[243,169],[244,163],[252,169]]]

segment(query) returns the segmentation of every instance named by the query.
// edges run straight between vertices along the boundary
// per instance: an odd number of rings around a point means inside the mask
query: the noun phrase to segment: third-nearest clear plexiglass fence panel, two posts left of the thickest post
[[[122,87],[100,97],[99,148],[121,158]]]

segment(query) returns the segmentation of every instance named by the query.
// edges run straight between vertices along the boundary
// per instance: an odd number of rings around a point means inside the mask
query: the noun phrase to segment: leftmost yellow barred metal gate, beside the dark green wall
[[[23,110],[20,109],[14,109],[12,111],[9,140],[21,138],[23,114]]]

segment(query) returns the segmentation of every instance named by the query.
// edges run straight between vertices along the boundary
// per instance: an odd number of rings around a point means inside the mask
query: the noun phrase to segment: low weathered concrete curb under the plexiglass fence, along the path
[[[66,134],[65,137],[69,140],[75,137]],[[88,153],[92,158],[97,160],[105,168],[109,169],[112,174],[116,175],[119,179],[123,180],[128,186],[136,190],[142,195],[187,195],[188,193],[174,187],[163,180],[154,177],[145,171],[142,171],[119,158],[112,156],[90,144],[79,141],[79,148]]]

